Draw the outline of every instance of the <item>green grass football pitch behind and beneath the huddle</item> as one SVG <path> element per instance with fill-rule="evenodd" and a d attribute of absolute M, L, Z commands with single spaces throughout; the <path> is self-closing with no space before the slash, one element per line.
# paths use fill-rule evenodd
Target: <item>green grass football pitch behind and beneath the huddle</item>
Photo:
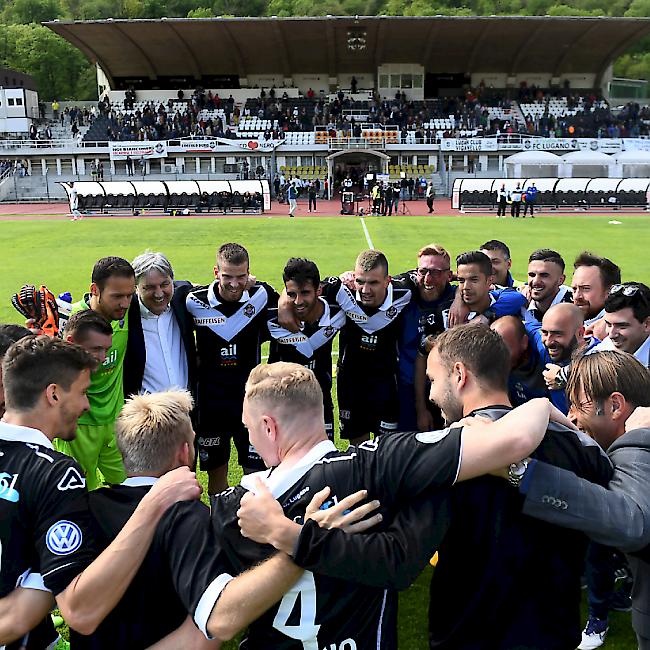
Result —
<path fill-rule="evenodd" d="M 612 219 L 620 224 L 609 224 Z M 438 242 L 452 257 L 477 248 L 487 239 L 501 239 L 512 251 L 513 275 L 524 279 L 528 254 L 554 248 L 571 264 L 582 250 L 613 259 L 625 280 L 650 282 L 648 217 L 580 215 L 539 216 L 535 220 L 496 220 L 494 217 L 366 217 L 375 248 L 384 251 L 392 272 L 415 265 L 424 244 Z M 0 222 L 0 322 L 20 322 L 11 294 L 22 284 L 45 283 L 55 293 L 70 291 L 75 300 L 88 290 L 93 263 L 106 255 L 132 259 L 145 249 L 163 251 L 178 279 L 207 283 L 212 279 L 216 248 L 236 241 L 248 248 L 251 272 L 275 287 L 291 257 L 317 262 L 323 275 L 351 269 L 368 242 L 357 217 L 286 217 L 254 219 L 92 219 Z M 570 270 L 568 273 L 570 280 Z M 231 481 L 238 480 L 231 463 Z M 427 647 L 427 569 L 400 600 L 400 648 Z M 444 594 L 440 595 L 444 597 Z M 542 614 L 543 615 L 543 614 Z M 489 631 L 486 630 L 486 634 Z M 224 648 L 235 648 L 234 643 Z M 613 614 L 606 648 L 635 648 L 628 614 Z"/>

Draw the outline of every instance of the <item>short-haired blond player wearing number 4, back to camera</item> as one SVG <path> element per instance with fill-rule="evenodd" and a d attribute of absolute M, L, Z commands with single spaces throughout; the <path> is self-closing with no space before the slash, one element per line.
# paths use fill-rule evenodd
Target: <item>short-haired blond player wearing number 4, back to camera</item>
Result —
<path fill-rule="evenodd" d="M 273 469 L 245 476 L 240 486 L 212 500 L 216 537 L 237 570 L 267 557 L 268 546 L 240 534 L 240 507 L 252 505 L 258 509 L 253 522 L 267 519 L 270 537 L 263 541 L 293 552 L 307 503 L 326 486 L 331 489 L 326 507 L 367 489 L 371 499 L 381 500 L 383 519 L 390 524 L 395 512 L 413 500 L 434 499 L 456 481 L 526 456 L 543 436 L 550 414 L 546 400 L 534 400 L 494 424 L 380 436 L 340 452 L 325 433 L 323 398 L 314 373 L 293 363 L 259 365 L 246 384 L 243 418 L 251 442 Z M 523 443 L 520 434 L 528 441 Z M 519 442 L 513 445 L 514 440 Z M 418 525 L 428 530 L 431 519 L 425 516 Z M 245 534 L 256 537 L 253 530 Z M 345 558 L 345 539 L 354 537 L 343 536 L 337 557 Z M 381 551 L 373 547 L 369 560 L 384 563 L 386 555 L 400 555 L 410 561 L 409 549 L 379 544 Z M 305 571 L 280 604 L 251 625 L 246 647 L 396 648 L 396 593 L 355 582 L 368 584 L 371 578 L 351 572 L 343 580 Z M 296 616 L 294 609 L 299 609 Z"/>

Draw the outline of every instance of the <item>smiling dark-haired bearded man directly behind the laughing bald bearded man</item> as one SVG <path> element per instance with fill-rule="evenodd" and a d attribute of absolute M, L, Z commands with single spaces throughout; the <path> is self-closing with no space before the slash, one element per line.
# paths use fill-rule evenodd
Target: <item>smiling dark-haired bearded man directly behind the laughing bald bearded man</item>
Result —
<path fill-rule="evenodd" d="M 571 290 L 563 286 L 564 260 L 549 248 L 540 248 L 528 258 L 528 308 L 522 313 L 527 323 L 541 323 L 552 305 L 571 302 Z"/>

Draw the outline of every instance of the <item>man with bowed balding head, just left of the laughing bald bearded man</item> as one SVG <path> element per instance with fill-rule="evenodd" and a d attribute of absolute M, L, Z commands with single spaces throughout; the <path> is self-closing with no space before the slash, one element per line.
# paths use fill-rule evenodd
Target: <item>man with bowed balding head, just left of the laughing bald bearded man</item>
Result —
<path fill-rule="evenodd" d="M 545 360 L 526 334 L 526 328 L 517 316 L 503 316 L 492 323 L 510 352 L 508 394 L 513 406 L 519 406 L 536 397 L 549 397 L 542 375 Z"/>

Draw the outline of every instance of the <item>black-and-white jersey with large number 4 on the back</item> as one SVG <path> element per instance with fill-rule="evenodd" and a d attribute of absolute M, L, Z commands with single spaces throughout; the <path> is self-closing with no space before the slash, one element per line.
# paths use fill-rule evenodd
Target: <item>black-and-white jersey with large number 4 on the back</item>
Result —
<path fill-rule="evenodd" d="M 302 522 L 314 494 L 329 486 L 323 507 L 361 490 L 381 501 L 384 522 L 411 500 L 451 486 L 458 475 L 461 429 L 380 436 L 346 452 L 330 441 L 314 446 L 296 465 L 250 474 L 239 486 L 212 498 L 215 535 L 237 572 L 274 550 L 243 538 L 237 510 L 254 479 L 262 478 L 285 515 Z M 397 647 L 397 594 L 305 571 L 282 601 L 253 623 L 242 650 L 393 650 Z"/>

